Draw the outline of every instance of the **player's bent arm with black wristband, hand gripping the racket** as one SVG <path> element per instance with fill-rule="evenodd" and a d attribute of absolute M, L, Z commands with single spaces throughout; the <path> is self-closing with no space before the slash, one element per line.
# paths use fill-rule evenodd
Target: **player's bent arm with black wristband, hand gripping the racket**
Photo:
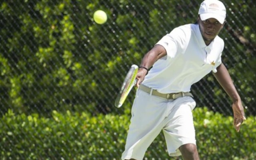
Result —
<path fill-rule="evenodd" d="M 155 45 L 145 56 L 143 57 L 140 66 L 150 68 L 160 58 L 166 56 L 166 50 L 161 45 Z M 136 86 L 139 87 L 140 83 L 144 80 L 147 70 L 145 68 L 139 68 L 136 79 L 138 79 Z"/>

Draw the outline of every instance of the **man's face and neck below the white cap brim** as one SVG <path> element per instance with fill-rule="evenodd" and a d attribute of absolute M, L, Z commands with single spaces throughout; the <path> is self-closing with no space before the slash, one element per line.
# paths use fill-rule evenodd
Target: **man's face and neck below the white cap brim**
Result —
<path fill-rule="evenodd" d="M 215 18 L 201 20 L 200 16 L 198 16 L 197 21 L 206 45 L 212 42 L 212 40 L 220 33 L 220 30 L 223 28 L 225 24 L 225 22 L 221 24 Z"/>

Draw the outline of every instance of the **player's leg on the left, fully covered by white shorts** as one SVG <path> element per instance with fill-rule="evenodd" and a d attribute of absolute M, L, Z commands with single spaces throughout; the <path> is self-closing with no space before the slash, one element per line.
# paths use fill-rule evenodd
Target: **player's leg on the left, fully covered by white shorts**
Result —
<path fill-rule="evenodd" d="M 142 160 L 153 140 L 162 131 L 167 100 L 137 90 L 122 160 Z"/>

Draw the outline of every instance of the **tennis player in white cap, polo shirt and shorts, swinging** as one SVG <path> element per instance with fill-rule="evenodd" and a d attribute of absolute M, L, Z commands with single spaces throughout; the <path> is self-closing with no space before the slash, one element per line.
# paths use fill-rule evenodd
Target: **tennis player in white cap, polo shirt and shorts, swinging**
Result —
<path fill-rule="evenodd" d="M 161 131 L 170 156 L 199 160 L 192 117 L 196 102 L 190 87 L 211 71 L 232 99 L 234 127 L 239 132 L 246 119 L 244 108 L 222 64 L 224 41 L 218 36 L 225 19 L 222 2 L 204 0 L 196 24 L 174 28 L 144 56 L 122 160 L 142 160 Z"/>

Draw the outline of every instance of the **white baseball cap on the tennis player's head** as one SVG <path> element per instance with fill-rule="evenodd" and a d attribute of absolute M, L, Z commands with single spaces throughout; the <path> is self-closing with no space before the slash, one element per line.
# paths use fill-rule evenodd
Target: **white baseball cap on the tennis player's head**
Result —
<path fill-rule="evenodd" d="M 215 18 L 223 24 L 226 18 L 226 8 L 219 0 L 204 0 L 200 5 L 198 14 L 201 20 Z"/>

